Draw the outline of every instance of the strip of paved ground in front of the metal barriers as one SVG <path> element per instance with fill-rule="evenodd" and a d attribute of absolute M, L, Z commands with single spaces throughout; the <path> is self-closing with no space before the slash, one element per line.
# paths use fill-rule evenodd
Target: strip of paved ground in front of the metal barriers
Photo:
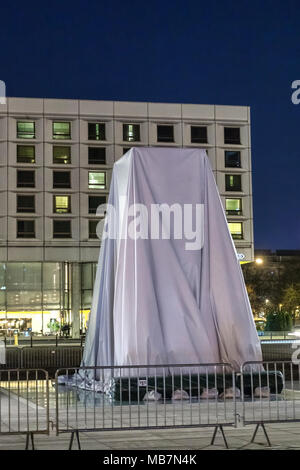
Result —
<path fill-rule="evenodd" d="M 238 429 L 225 429 L 230 449 L 300 449 L 300 424 L 271 424 L 267 425 L 272 447 L 265 445 L 266 441 L 260 430 L 256 443 L 250 444 L 254 427 L 247 426 Z M 80 435 L 84 450 L 176 450 L 203 449 L 223 450 L 223 442 L 218 435 L 216 445 L 210 446 L 212 429 L 171 429 L 164 431 L 112 431 L 103 433 L 82 433 Z M 69 435 L 35 437 L 36 448 L 39 450 L 66 450 Z M 0 450 L 24 449 L 24 436 L 0 436 Z M 76 443 L 74 445 L 76 448 Z"/>

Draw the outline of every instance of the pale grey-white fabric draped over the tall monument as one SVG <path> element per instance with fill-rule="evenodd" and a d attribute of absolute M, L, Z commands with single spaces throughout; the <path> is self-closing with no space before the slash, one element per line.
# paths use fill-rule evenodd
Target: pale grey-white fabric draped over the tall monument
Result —
<path fill-rule="evenodd" d="M 262 360 L 236 250 L 204 150 L 133 148 L 115 163 L 109 203 L 127 227 L 128 203 L 204 204 L 204 245 L 103 241 L 82 365 Z"/>

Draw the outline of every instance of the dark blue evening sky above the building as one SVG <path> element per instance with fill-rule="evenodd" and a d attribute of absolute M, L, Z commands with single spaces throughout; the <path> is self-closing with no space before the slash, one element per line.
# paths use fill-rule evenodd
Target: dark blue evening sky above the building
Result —
<path fill-rule="evenodd" d="M 6 2 L 8 96 L 249 105 L 256 248 L 300 248 L 299 0 Z"/>

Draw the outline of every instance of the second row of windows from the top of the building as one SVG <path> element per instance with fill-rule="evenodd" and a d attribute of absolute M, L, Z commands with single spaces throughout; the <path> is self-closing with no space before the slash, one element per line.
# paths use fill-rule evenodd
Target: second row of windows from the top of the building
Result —
<path fill-rule="evenodd" d="M 129 148 L 124 148 L 124 153 Z M 53 146 L 52 148 L 53 163 L 70 165 L 71 147 L 70 146 Z M 34 145 L 17 145 L 17 162 L 18 163 L 35 163 L 35 146 Z M 106 148 L 105 147 L 88 147 L 88 164 L 89 165 L 105 165 L 106 164 Z M 238 150 L 225 150 L 225 167 L 241 168 L 241 152 Z"/>

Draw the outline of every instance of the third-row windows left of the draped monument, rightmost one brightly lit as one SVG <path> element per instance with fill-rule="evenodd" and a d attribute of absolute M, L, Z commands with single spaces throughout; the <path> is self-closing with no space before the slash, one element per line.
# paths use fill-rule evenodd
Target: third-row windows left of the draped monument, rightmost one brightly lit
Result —
<path fill-rule="evenodd" d="M 105 171 L 89 171 L 89 189 L 106 189 L 107 178 Z M 35 188 L 34 170 L 17 170 L 17 188 Z M 53 188 L 71 188 L 70 171 L 53 171 Z"/>

